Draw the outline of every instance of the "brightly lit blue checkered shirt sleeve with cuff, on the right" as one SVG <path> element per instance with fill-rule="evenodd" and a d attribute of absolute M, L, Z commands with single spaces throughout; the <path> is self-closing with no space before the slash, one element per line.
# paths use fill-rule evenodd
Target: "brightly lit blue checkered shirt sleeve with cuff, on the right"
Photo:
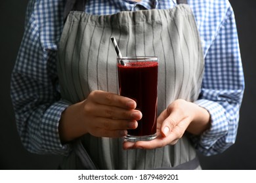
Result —
<path fill-rule="evenodd" d="M 220 14 L 211 14 L 209 10 L 203 12 L 194 7 L 194 13 L 200 15 L 198 18 L 206 17 L 202 16 L 203 13 L 209 13 L 209 18 L 205 18 L 207 22 L 201 20 L 199 25 L 205 53 L 205 74 L 202 92 L 196 103 L 211 114 L 211 128 L 200 137 L 193 138 L 196 148 L 206 156 L 219 154 L 236 141 L 244 93 L 244 73 L 234 12 L 230 3 L 219 2 L 223 4 L 209 3 L 212 7 L 208 9 L 218 8 L 222 12 Z M 198 1 L 197 5 L 202 6 L 200 3 Z M 216 27 L 218 19 L 221 24 Z"/>

